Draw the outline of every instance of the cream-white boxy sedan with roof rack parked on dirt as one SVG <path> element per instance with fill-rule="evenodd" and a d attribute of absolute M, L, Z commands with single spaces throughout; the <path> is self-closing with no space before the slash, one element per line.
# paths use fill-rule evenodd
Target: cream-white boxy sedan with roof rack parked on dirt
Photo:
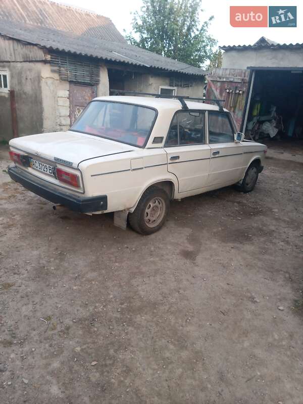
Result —
<path fill-rule="evenodd" d="M 172 199 L 237 184 L 254 189 L 267 147 L 243 140 L 230 113 L 183 98 L 92 100 L 67 132 L 10 141 L 11 178 L 85 214 L 115 212 L 141 234 L 159 230 Z"/>

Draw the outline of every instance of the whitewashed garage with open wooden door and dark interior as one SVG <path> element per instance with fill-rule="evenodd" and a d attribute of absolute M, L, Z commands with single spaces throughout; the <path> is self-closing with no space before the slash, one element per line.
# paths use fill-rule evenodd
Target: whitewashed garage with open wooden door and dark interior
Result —
<path fill-rule="evenodd" d="M 222 68 L 209 72 L 207 97 L 225 99 L 248 139 L 303 139 L 303 43 L 261 37 L 221 49 Z"/>

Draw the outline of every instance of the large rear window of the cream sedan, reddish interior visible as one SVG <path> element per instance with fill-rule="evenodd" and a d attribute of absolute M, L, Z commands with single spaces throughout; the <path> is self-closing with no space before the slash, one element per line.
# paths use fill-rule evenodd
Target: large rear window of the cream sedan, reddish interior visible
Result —
<path fill-rule="evenodd" d="M 153 129 L 156 111 L 131 104 L 93 101 L 71 130 L 143 147 Z"/>

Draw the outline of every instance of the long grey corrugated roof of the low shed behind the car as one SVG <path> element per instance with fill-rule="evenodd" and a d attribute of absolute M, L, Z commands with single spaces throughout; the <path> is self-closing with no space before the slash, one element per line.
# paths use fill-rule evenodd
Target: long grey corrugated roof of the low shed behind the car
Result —
<path fill-rule="evenodd" d="M 129 45 L 127 42 L 114 42 L 84 34 L 75 35 L 55 28 L 33 26 L 0 19 L 0 34 L 39 45 L 52 51 L 68 52 L 107 61 L 123 62 L 129 65 L 195 76 L 204 76 L 206 74 L 202 69 L 165 58 L 145 49 Z"/>

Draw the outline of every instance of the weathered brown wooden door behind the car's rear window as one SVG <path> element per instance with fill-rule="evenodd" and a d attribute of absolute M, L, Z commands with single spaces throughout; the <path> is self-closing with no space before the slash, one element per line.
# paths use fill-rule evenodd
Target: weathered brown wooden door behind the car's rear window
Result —
<path fill-rule="evenodd" d="M 69 99 L 71 125 L 73 125 L 87 104 L 96 96 L 96 85 L 80 85 L 70 83 Z"/>

